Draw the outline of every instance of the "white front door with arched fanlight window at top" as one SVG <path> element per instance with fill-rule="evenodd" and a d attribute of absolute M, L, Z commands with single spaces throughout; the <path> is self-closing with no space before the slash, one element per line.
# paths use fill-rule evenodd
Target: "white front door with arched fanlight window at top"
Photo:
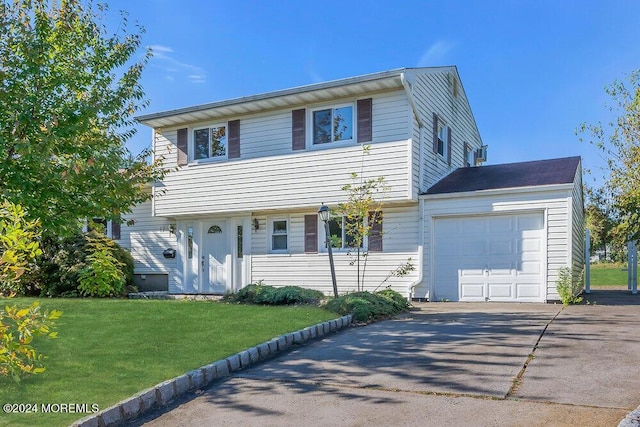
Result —
<path fill-rule="evenodd" d="M 230 290 L 229 230 L 226 221 L 205 222 L 204 250 L 200 256 L 202 280 L 200 293 L 224 293 Z"/>

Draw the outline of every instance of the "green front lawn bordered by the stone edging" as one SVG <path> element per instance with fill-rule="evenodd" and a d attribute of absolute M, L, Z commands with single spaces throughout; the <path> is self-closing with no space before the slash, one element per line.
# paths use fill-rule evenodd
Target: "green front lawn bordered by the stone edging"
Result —
<path fill-rule="evenodd" d="M 28 298 L 0 300 L 26 307 Z M 58 338 L 34 343 L 47 371 L 0 378 L 0 403 L 97 404 L 100 410 L 166 379 L 271 338 L 337 317 L 317 307 L 207 301 L 41 299 L 64 313 Z M 68 425 L 85 414 L 5 414 L 0 425 Z"/>

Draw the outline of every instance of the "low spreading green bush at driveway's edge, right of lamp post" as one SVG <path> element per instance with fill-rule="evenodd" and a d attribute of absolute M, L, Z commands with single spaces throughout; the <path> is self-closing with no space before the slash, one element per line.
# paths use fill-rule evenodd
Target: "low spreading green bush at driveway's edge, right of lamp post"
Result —
<path fill-rule="evenodd" d="M 342 295 L 327 302 L 325 308 L 340 315 L 351 313 L 357 322 L 368 322 L 402 313 L 409 309 L 409 303 L 398 292 L 385 289 Z"/>

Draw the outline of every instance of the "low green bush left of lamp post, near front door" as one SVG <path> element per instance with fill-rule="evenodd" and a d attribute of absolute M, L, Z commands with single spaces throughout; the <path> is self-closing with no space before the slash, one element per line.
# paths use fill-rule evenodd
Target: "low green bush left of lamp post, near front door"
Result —
<path fill-rule="evenodd" d="M 299 286 L 276 288 L 258 282 L 245 286 L 235 294 L 227 295 L 225 300 L 241 304 L 295 305 L 318 304 L 323 298 L 322 292 L 313 289 Z"/>

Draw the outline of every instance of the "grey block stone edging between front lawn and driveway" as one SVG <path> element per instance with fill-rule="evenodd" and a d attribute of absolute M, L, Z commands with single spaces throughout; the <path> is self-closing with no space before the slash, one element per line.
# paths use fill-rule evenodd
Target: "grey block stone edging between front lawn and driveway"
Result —
<path fill-rule="evenodd" d="M 71 425 L 73 427 L 104 427 L 122 424 L 151 409 L 166 406 L 175 398 L 189 391 L 198 390 L 216 380 L 230 376 L 235 371 L 270 359 L 283 351 L 289 350 L 294 345 L 304 344 L 307 341 L 322 338 L 324 335 L 346 328 L 351 324 L 352 320 L 353 316 L 348 314 L 296 332 L 281 335 L 231 355 L 226 359 L 212 362 L 171 380 L 163 381 L 109 408 L 79 419 Z"/>

